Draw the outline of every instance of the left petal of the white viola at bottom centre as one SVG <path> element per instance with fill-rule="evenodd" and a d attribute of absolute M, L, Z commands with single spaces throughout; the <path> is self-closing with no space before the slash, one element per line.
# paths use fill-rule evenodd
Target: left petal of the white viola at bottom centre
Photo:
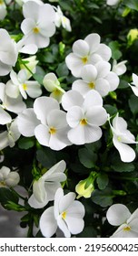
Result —
<path fill-rule="evenodd" d="M 50 238 L 57 229 L 57 223 L 54 219 L 54 207 L 47 208 L 40 217 L 40 230 L 44 237 Z"/>

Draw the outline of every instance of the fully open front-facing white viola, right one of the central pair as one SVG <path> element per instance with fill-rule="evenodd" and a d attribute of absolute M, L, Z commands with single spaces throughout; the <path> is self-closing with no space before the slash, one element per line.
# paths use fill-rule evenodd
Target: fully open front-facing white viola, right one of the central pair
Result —
<path fill-rule="evenodd" d="M 103 99 L 97 91 L 89 91 L 85 98 L 78 91 L 64 93 L 62 99 L 66 120 L 71 130 L 68 138 L 73 144 L 89 144 L 102 136 L 99 127 L 107 120 Z"/>

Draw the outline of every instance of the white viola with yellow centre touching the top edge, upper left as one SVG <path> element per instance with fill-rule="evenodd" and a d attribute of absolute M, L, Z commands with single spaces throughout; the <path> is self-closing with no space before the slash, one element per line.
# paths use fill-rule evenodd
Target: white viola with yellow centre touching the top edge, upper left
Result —
<path fill-rule="evenodd" d="M 37 48 L 46 48 L 55 32 L 54 7 L 27 1 L 23 5 L 23 15 L 25 19 L 21 29 L 25 35 L 25 46 L 34 44 Z"/>

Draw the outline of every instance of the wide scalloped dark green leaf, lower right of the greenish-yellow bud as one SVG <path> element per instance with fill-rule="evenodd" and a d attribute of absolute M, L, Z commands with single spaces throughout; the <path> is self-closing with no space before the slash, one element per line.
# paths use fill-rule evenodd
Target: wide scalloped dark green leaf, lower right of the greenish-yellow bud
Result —
<path fill-rule="evenodd" d="M 113 204 L 113 197 L 112 190 L 105 188 L 102 191 L 95 189 L 91 198 L 95 204 L 105 208 Z"/>

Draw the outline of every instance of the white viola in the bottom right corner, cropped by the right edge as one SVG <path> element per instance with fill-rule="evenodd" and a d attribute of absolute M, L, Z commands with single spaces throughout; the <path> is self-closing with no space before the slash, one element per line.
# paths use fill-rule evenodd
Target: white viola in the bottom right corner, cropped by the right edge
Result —
<path fill-rule="evenodd" d="M 108 208 L 106 218 L 111 225 L 120 226 L 112 238 L 138 238 L 138 208 L 131 214 L 123 204 L 114 204 Z"/>

